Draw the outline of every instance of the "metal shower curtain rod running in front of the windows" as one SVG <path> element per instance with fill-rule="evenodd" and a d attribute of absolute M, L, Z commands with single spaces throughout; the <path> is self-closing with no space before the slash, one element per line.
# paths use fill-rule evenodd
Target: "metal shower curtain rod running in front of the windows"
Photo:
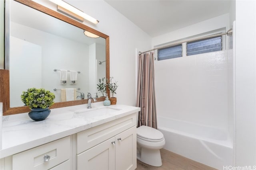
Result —
<path fill-rule="evenodd" d="M 176 43 L 164 45 L 164 46 L 157 47 L 157 48 L 154 48 L 154 49 L 151 49 L 151 50 L 148 50 L 148 51 L 144 51 L 144 52 L 140 52 L 140 51 L 139 51 L 139 55 L 141 55 L 141 54 L 143 54 L 143 53 L 150 52 L 150 51 L 162 49 L 162 48 L 165 48 L 165 47 L 171 47 L 171 46 L 173 46 L 173 45 L 178 45 L 178 44 L 181 44 L 181 43 L 187 43 L 187 42 L 190 42 L 190 41 L 196 41 L 196 40 L 200 40 L 200 39 L 206 39 L 206 38 L 217 37 L 217 36 L 220 36 L 220 35 L 228 35 L 228 36 L 231 37 L 231 36 L 232 36 L 232 28 L 229 29 L 226 33 L 217 33 L 217 34 L 214 34 L 214 35 L 208 35 L 208 36 L 204 36 L 204 37 L 199 37 L 199 38 L 194 38 L 194 39 L 179 41 L 179 42 L 176 42 Z"/>

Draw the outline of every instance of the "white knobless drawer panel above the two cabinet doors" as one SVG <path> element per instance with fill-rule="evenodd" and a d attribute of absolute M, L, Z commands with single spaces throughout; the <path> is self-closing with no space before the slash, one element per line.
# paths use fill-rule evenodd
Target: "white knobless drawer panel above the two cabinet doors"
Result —
<path fill-rule="evenodd" d="M 87 129 L 77 134 L 77 154 L 106 141 L 136 125 L 136 114 L 131 114 L 108 123 Z"/>

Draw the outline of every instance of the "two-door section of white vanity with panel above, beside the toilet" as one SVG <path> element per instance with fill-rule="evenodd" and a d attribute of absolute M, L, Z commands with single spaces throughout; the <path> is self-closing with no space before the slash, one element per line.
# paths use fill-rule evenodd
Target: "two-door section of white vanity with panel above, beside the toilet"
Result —
<path fill-rule="evenodd" d="M 77 170 L 134 170 L 136 115 L 77 134 Z"/>

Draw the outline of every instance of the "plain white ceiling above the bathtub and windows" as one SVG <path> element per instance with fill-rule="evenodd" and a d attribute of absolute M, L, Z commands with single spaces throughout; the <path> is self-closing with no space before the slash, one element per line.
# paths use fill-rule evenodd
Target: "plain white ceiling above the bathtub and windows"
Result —
<path fill-rule="evenodd" d="M 227 14 L 231 0 L 105 0 L 151 37 Z"/>

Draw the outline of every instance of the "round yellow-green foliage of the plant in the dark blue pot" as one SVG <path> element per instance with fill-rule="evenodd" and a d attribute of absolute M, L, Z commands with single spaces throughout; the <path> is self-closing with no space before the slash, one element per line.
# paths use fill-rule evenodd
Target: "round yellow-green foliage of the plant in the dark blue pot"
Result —
<path fill-rule="evenodd" d="M 21 100 L 30 109 L 42 108 L 45 109 L 54 104 L 55 95 L 44 88 L 29 88 L 22 92 Z"/>

